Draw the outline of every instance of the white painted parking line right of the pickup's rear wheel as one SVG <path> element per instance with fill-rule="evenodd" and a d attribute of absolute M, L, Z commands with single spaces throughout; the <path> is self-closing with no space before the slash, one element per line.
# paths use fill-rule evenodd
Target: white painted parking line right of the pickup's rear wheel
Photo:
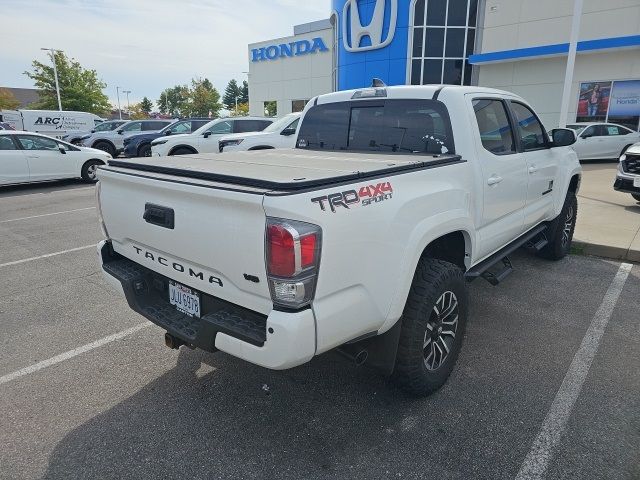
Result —
<path fill-rule="evenodd" d="M 591 362 L 598 351 L 604 330 L 632 267 L 633 265 L 629 263 L 620 265 L 618 273 L 613 278 L 607 293 L 605 293 L 598 311 L 591 320 L 580 348 L 573 357 L 569 370 L 564 380 L 562 380 L 562 385 L 560 385 L 560 389 L 553 399 L 551 408 L 542 423 L 531 450 L 520 467 L 516 480 L 533 480 L 544 477 L 553 455 L 553 450 L 564 433 L 573 406 L 580 395 L 580 390 L 587 378 L 589 368 L 591 368 Z"/>

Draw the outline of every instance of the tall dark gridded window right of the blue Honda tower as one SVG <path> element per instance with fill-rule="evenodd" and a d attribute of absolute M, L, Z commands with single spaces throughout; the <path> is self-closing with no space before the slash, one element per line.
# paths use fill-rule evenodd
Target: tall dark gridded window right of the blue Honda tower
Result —
<path fill-rule="evenodd" d="M 478 0 L 417 0 L 413 10 L 411 84 L 471 85 Z"/>

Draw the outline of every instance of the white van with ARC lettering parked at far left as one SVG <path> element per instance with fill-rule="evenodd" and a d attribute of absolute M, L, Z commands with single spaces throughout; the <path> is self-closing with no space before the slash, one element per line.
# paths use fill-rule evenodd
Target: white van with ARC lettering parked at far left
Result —
<path fill-rule="evenodd" d="M 75 131 L 93 130 L 104 120 L 87 112 L 58 110 L 0 110 L 0 122 L 6 122 L 16 130 L 42 133 L 62 138 Z"/>

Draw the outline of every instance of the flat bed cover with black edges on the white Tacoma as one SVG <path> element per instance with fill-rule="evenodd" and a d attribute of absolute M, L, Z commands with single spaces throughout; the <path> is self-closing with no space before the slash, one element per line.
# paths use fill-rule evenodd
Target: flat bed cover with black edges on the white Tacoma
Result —
<path fill-rule="evenodd" d="M 299 191 L 407 170 L 460 162 L 458 155 L 406 155 L 312 150 L 257 150 L 224 154 L 111 160 L 114 170 L 152 172 L 259 190 Z M 103 167 L 109 170 L 109 167 Z M 156 177 L 157 178 L 157 177 Z M 264 193 L 264 191 L 256 193 Z"/>

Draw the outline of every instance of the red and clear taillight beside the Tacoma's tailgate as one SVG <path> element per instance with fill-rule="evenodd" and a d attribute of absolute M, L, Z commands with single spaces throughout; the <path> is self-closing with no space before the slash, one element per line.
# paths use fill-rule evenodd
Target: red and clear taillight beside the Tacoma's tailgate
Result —
<path fill-rule="evenodd" d="M 311 223 L 267 218 L 267 276 L 274 305 L 301 308 L 313 300 L 322 230 Z"/>

